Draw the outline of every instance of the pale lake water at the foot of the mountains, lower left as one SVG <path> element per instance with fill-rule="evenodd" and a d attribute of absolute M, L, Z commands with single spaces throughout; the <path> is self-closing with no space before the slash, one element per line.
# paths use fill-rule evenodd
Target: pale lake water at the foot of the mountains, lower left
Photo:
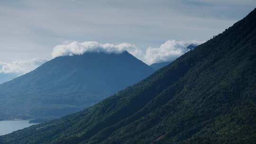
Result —
<path fill-rule="evenodd" d="M 36 123 L 29 123 L 29 120 L 4 120 L 0 121 L 0 135 L 9 134 L 11 132 L 23 129 Z"/>

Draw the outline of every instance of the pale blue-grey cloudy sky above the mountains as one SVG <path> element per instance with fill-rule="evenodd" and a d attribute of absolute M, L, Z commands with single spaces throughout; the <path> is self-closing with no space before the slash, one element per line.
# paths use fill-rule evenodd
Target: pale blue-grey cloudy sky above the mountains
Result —
<path fill-rule="evenodd" d="M 256 0 L 0 0 L 0 72 L 29 72 L 71 45 L 128 50 L 147 64 L 172 60 L 255 7 Z"/>

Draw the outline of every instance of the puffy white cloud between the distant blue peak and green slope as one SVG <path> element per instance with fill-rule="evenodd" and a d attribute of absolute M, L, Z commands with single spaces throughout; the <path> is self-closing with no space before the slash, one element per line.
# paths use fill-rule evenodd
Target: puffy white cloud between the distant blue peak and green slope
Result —
<path fill-rule="evenodd" d="M 199 44 L 201 42 L 168 40 L 160 45 L 160 47 L 148 47 L 146 49 L 145 60 L 148 64 L 171 62 L 188 52 L 190 50 L 188 48 L 189 45 Z"/>

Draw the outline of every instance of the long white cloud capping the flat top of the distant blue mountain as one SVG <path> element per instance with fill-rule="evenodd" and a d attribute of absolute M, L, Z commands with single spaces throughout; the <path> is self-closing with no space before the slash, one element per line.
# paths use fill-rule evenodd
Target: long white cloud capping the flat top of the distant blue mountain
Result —
<path fill-rule="evenodd" d="M 114 44 L 99 44 L 98 42 L 86 41 L 83 43 L 70 42 L 64 43 L 63 45 L 57 45 L 54 47 L 52 57 L 73 55 L 73 54 L 84 54 L 86 52 L 104 52 L 107 54 L 115 53 L 120 54 L 124 51 L 129 51 L 131 54 L 139 53 L 139 49 L 132 44 L 121 43 L 118 45 Z"/>

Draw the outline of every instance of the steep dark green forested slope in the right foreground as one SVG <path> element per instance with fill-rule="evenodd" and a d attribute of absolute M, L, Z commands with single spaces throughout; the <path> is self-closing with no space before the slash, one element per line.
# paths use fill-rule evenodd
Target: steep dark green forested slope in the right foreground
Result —
<path fill-rule="evenodd" d="M 254 144 L 256 9 L 145 80 L 2 144 Z"/>

